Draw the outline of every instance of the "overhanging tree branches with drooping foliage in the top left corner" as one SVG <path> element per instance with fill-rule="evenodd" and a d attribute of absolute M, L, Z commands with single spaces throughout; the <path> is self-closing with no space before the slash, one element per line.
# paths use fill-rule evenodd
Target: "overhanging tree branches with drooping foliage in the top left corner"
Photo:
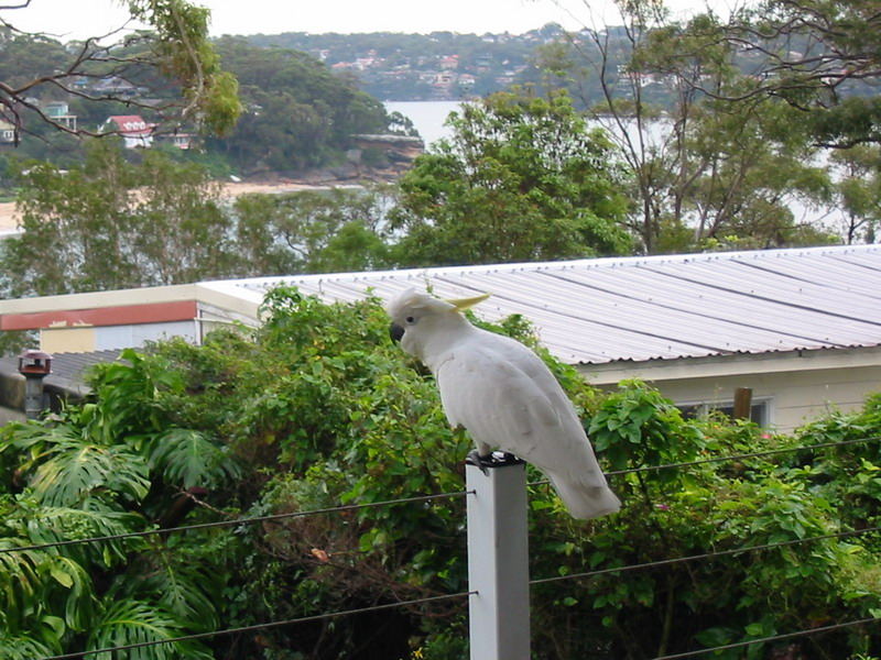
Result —
<path fill-rule="evenodd" d="M 29 3 L 26 0 L 3 10 Z M 9 121 L 17 134 L 34 132 L 42 124 L 64 133 L 97 134 L 94 128 L 72 125 L 45 111 L 45 101 L 72 99 L 141 108 L 151 117 L 163 118 L 167 130 L 177 128 L 181 121 L 217 133 L 232 128 L 241 111 L 238 84 L 221 69 L 208 40 L 210 12 L 185 0 L 127 0 L 124 4 L 133 19 L 152 31 L 123 34 L 120 29 L 113 35 L 63 45 L 45 35 L 23 33 L 6 16 L 0 18 L 0 50 L 9 66 L 15 67 L 0 77 L 0 118 Z M 108 36 L 119 34 L 123 34 L 121 40 L 106 43 Z M 15 56 L 19 48 L 41 56 L 21 58 Z M 161 74 L 159 78 L 156 73 Z M 94 85 L 99 80 L 117 85 Z M 153 84 L 152 94 L 146 89 L 137 96 L 129 94 L 148 82 Z M 163 99 L 159 106 L 155 94 Z M 153 100 L 146 100 L 151 97 Z"/>

